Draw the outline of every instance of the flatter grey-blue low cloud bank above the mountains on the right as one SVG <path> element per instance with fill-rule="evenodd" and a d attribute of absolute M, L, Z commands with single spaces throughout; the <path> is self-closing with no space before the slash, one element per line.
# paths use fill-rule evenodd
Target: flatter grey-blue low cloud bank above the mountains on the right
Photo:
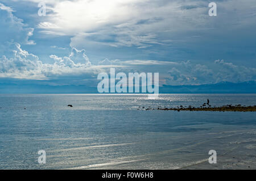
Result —
<path fill-rule="evenodd" d="M 164 85 L 204 85 L 218 82 L 256 81 L 256 69 L 235 65 L 224 60 L 212 61 L 207 65 L 192 61 L 157 61 L 157 60 L 109 60 L 106 58 L 100 65 L 123 65 L 121 71 L 159 72 L 161 84 Z"/>

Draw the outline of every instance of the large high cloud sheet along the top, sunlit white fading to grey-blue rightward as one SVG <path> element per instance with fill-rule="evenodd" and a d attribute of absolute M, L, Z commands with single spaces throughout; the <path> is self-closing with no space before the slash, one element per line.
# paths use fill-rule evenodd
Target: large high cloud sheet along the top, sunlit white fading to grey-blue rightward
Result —
<path fill-rule="evenodd" d="M 147 48 L 179 43 L 181 39 L 188 41 L 202 31 L 223 33 L 224 29 L 246 27 L 248 22 L 256 20 L 254 0 L 218 1 L 220 16 L 216 18 L 209 18 L 208 3 L 204 0 L 54 1 L 51 2 L 54 13 L 47 15 L 38 27 L 48 35 L 72 36 L 72 47 L 94 41 L 112 47 Z"/>

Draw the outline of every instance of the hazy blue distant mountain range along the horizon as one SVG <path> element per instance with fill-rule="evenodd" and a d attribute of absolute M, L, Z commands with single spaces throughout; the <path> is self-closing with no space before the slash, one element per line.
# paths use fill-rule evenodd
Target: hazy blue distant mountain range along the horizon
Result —
<path fill-rule="evenodd" d="M 256 94 L 256 82 L 159 87 L 160 94 Z M 0 94 L 97 94 L 97 87 L 50 86 L 38 83 L 0 83 Z"/>

